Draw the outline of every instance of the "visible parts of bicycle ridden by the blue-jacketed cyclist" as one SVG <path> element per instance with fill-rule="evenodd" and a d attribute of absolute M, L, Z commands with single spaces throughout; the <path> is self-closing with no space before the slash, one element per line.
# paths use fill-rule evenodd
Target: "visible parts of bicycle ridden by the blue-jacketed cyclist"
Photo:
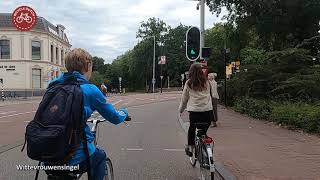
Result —
<path fill-rule="evenodd" d="M 105 119 L 101 120 L 101 119 L 88 119 L 87 123 L 92 123 L 92 127 L 91 127 L 91 132 L 95 135 L 94 136 L 94 145 L 96 146 L 98 144 L 98 138 L 97 138 L 97 129 L 98 129 L 98 124 L 101 122 L 106 121 Z M 131 121 L 131 117 L 128 116 L 127 119 L 125 121 Z M 127 123 L 124 122 L 126 125 Z M 52 174 L 48 174 L 47 175 L 47 180 L 80 180 L 80 178 L 82 177 L 82 175 L 84 174 L 80 173 L 79 171 L 55 171 Z M 112 161 L 109 157 L 107 157 L 106 159 L 106 176 L 105 176 L 105 180 L 114 180 L 114 173 L 113 173 L 113 166 L 112 166 Z"/>

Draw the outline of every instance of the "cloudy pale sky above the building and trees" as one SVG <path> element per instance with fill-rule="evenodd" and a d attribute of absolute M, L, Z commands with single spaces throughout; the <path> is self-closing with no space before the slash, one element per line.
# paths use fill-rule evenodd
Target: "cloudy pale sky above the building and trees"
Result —
<path fill-rule="evenodd" d="M 200 25 L 197 2 L 190 0 L 1 0 L 0 12 L 12 13 L 22 5 L 55 25 L 64 25 L 73 48 L 85 48 L 107 63 L 134 47 L 140 23 L 150 17 L 171 27 Z M 206 7 L 206 28 L 220 21 Z"/>

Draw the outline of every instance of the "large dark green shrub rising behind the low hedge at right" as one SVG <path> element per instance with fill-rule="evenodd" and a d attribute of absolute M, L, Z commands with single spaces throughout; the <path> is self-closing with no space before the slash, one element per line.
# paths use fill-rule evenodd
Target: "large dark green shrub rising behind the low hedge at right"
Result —
<path fill-rule="evenodd" d="M 242 66 L 241 73 L 228 81 L 229 102 L 232 104 L 241 96 L 284 101 L 320 100 L 320 67 L 313 66 L 307 53 L 287 49 L 268 53 L 264 64 Z"/>

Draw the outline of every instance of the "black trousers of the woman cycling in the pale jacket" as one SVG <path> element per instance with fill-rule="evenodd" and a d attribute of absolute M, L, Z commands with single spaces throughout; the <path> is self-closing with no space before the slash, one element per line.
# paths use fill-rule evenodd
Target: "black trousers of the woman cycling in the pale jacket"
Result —
<path fill-rule="evenodd" d="M 197 128 L 195 123 L 207 123 L 208 125 L 201 126 L 201 129 L 207 133 L 207 130 L 213 118 L 213 110 L 205 112 L 189 112 L 190 126 L 188 130 L 188 145 L 195 145 L 194 140 Z"/>

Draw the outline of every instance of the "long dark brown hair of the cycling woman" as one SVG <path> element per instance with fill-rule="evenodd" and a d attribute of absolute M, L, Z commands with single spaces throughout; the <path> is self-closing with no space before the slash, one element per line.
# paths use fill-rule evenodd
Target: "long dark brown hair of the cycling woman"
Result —
<path fill-rule="evenodd" d="M 193 63 L 191 65 L 187 85 L 194 91 L 203 91 L 207 89 L 207 77 L 202 71 L 201 64 Z"/>

